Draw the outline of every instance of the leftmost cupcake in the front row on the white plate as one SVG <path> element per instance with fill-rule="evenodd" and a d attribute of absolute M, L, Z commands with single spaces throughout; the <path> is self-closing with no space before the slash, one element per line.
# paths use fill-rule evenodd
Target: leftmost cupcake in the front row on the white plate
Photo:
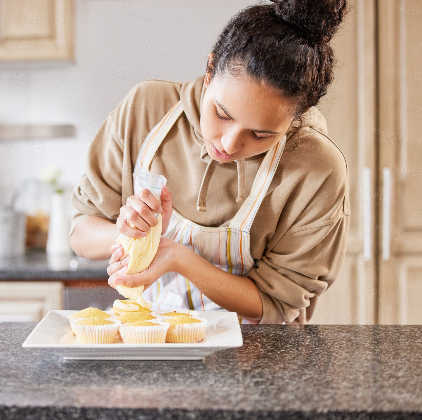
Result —
<path fill-rule="evenodd" d="M 80 344 L 114 343 L 120 323 L 99 317 L 82 318 L 73 324 L 73 329 Z"/>

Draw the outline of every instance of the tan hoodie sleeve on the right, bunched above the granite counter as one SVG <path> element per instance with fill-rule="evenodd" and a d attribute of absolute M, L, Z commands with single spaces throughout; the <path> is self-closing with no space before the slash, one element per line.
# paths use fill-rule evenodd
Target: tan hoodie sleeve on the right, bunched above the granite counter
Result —
<path fill-rule="evenodd" d="M 347 166 L 343 172 L 327 176 L 295 223 L 247 274 L 262 300 L 260 324 L 308 322 L 319 295 L 338 276 L 350 214 Z"/>

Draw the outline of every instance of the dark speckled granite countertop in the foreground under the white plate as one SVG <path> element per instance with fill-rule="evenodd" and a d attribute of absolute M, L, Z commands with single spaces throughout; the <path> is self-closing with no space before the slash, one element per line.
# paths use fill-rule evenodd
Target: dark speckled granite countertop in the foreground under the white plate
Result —
<path fill-rule="evenodd" d="M 64 360 L 0 324 L 0 419 L 422 417 L 422 326 L 242 325 L 203 360 Z"/>

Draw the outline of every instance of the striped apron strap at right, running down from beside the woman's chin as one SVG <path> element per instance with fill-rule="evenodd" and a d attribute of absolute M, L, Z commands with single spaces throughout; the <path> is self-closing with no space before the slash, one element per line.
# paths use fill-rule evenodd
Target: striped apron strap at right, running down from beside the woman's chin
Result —
<path fill-rule="evenodd" d="M 274 174 L 276 173 L 286 141 L 287 135 L 285 134 L 284 137 L 265 154 L 257 171 L 257 175 L 255 176 L 254 183 L 252 184 L 251 192 L 239 211 L 235 214 L 235 217 L 230 221 L 230 228 L 249 232 L 255 215 L 257 214 L 268 187 L 273 180 Z"/>

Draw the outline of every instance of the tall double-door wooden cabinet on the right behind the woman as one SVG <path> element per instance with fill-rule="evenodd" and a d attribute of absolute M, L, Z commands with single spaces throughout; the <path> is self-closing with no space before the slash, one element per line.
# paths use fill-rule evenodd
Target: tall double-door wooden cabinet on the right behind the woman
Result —
<path fill-rule="evenodd" d="M 356 0 L 320 106 L 350 176 L 343 268 L 313 323 L 422 322 L 422 38 L 418 0 Z"/>

